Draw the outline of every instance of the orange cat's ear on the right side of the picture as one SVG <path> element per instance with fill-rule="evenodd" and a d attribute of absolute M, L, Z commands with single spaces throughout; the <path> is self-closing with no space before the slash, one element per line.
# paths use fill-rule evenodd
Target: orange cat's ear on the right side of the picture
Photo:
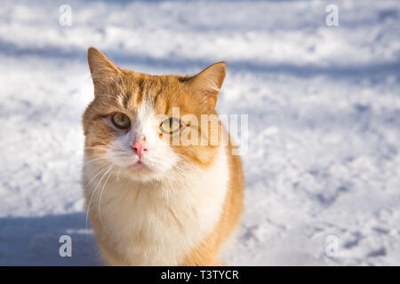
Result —
<path fill-rule="evenodd" d="M 187 83 L 190 85 L 200 99 L 213 109 L 217 104 L 218 94 L 226 75 L 225 62 L 219 62 L 206 67 L 202 72 L 190 77 Z"/>

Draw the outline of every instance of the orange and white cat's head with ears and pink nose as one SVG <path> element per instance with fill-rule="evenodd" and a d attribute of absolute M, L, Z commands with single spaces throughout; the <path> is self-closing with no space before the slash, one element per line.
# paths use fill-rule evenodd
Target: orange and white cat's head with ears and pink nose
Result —
<path fill-rule="evenodd" d="M 212 163 L 224 63 L 189 77 L 122 70 L 94 48 L 88 61 L 95 98 L 83 117 L 86 162 L 135 180 L 179 177 L 185 165 Z M 211 122 L 202 125 L 202 114 Z"/>

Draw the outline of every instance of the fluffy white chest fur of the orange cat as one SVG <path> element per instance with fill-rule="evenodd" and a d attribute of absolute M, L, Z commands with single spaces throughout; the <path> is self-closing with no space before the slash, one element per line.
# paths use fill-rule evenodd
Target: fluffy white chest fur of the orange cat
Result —
<path fill-rule="evenodd" d="M 92 172 L 85 167 L 84 173 Z M 220 147 L 209 169 L 191 169 L 179 182 L 138 183 L 111 176 L 104 190 L 101 185 L 93 193 L 94 181 L 84 191 L 93 196 L 91 218 L 101 219 L 95 227 L 98 238 L 126 264 L 177 265 L 218 222 L 228 177 L 227 155 Z"/>

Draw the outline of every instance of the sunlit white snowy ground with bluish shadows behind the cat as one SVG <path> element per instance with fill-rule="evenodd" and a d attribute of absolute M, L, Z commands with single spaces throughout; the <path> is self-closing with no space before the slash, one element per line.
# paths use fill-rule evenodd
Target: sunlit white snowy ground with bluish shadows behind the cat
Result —
<path fill-rule="evenodd" d="M 339 27 L 326 26 L 327 4 Z M 90 45 L 151 74 L 227 61 L 218 107 L 249 114 L 250 134 L 227 264 L 400 264 L 400 3 L 390 0 L 2 1 L 0 264 L 99 264 L 80 187 Z M 73 257 L 59 256 L 63 234 Z M 329 236 L 337 256 L 325 253 Z"/>

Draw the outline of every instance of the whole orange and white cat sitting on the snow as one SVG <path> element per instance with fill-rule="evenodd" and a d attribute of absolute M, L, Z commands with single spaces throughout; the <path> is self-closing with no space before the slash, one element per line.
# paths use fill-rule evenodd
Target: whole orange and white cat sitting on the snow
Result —
<path fill-rule="evenodd" d="M 88 64 L 82 180 L 105 263 L 221 265 L 244 203 L 242 162 L 215 111 L 225 63 L 147 75 L 90 47 Z"/>

